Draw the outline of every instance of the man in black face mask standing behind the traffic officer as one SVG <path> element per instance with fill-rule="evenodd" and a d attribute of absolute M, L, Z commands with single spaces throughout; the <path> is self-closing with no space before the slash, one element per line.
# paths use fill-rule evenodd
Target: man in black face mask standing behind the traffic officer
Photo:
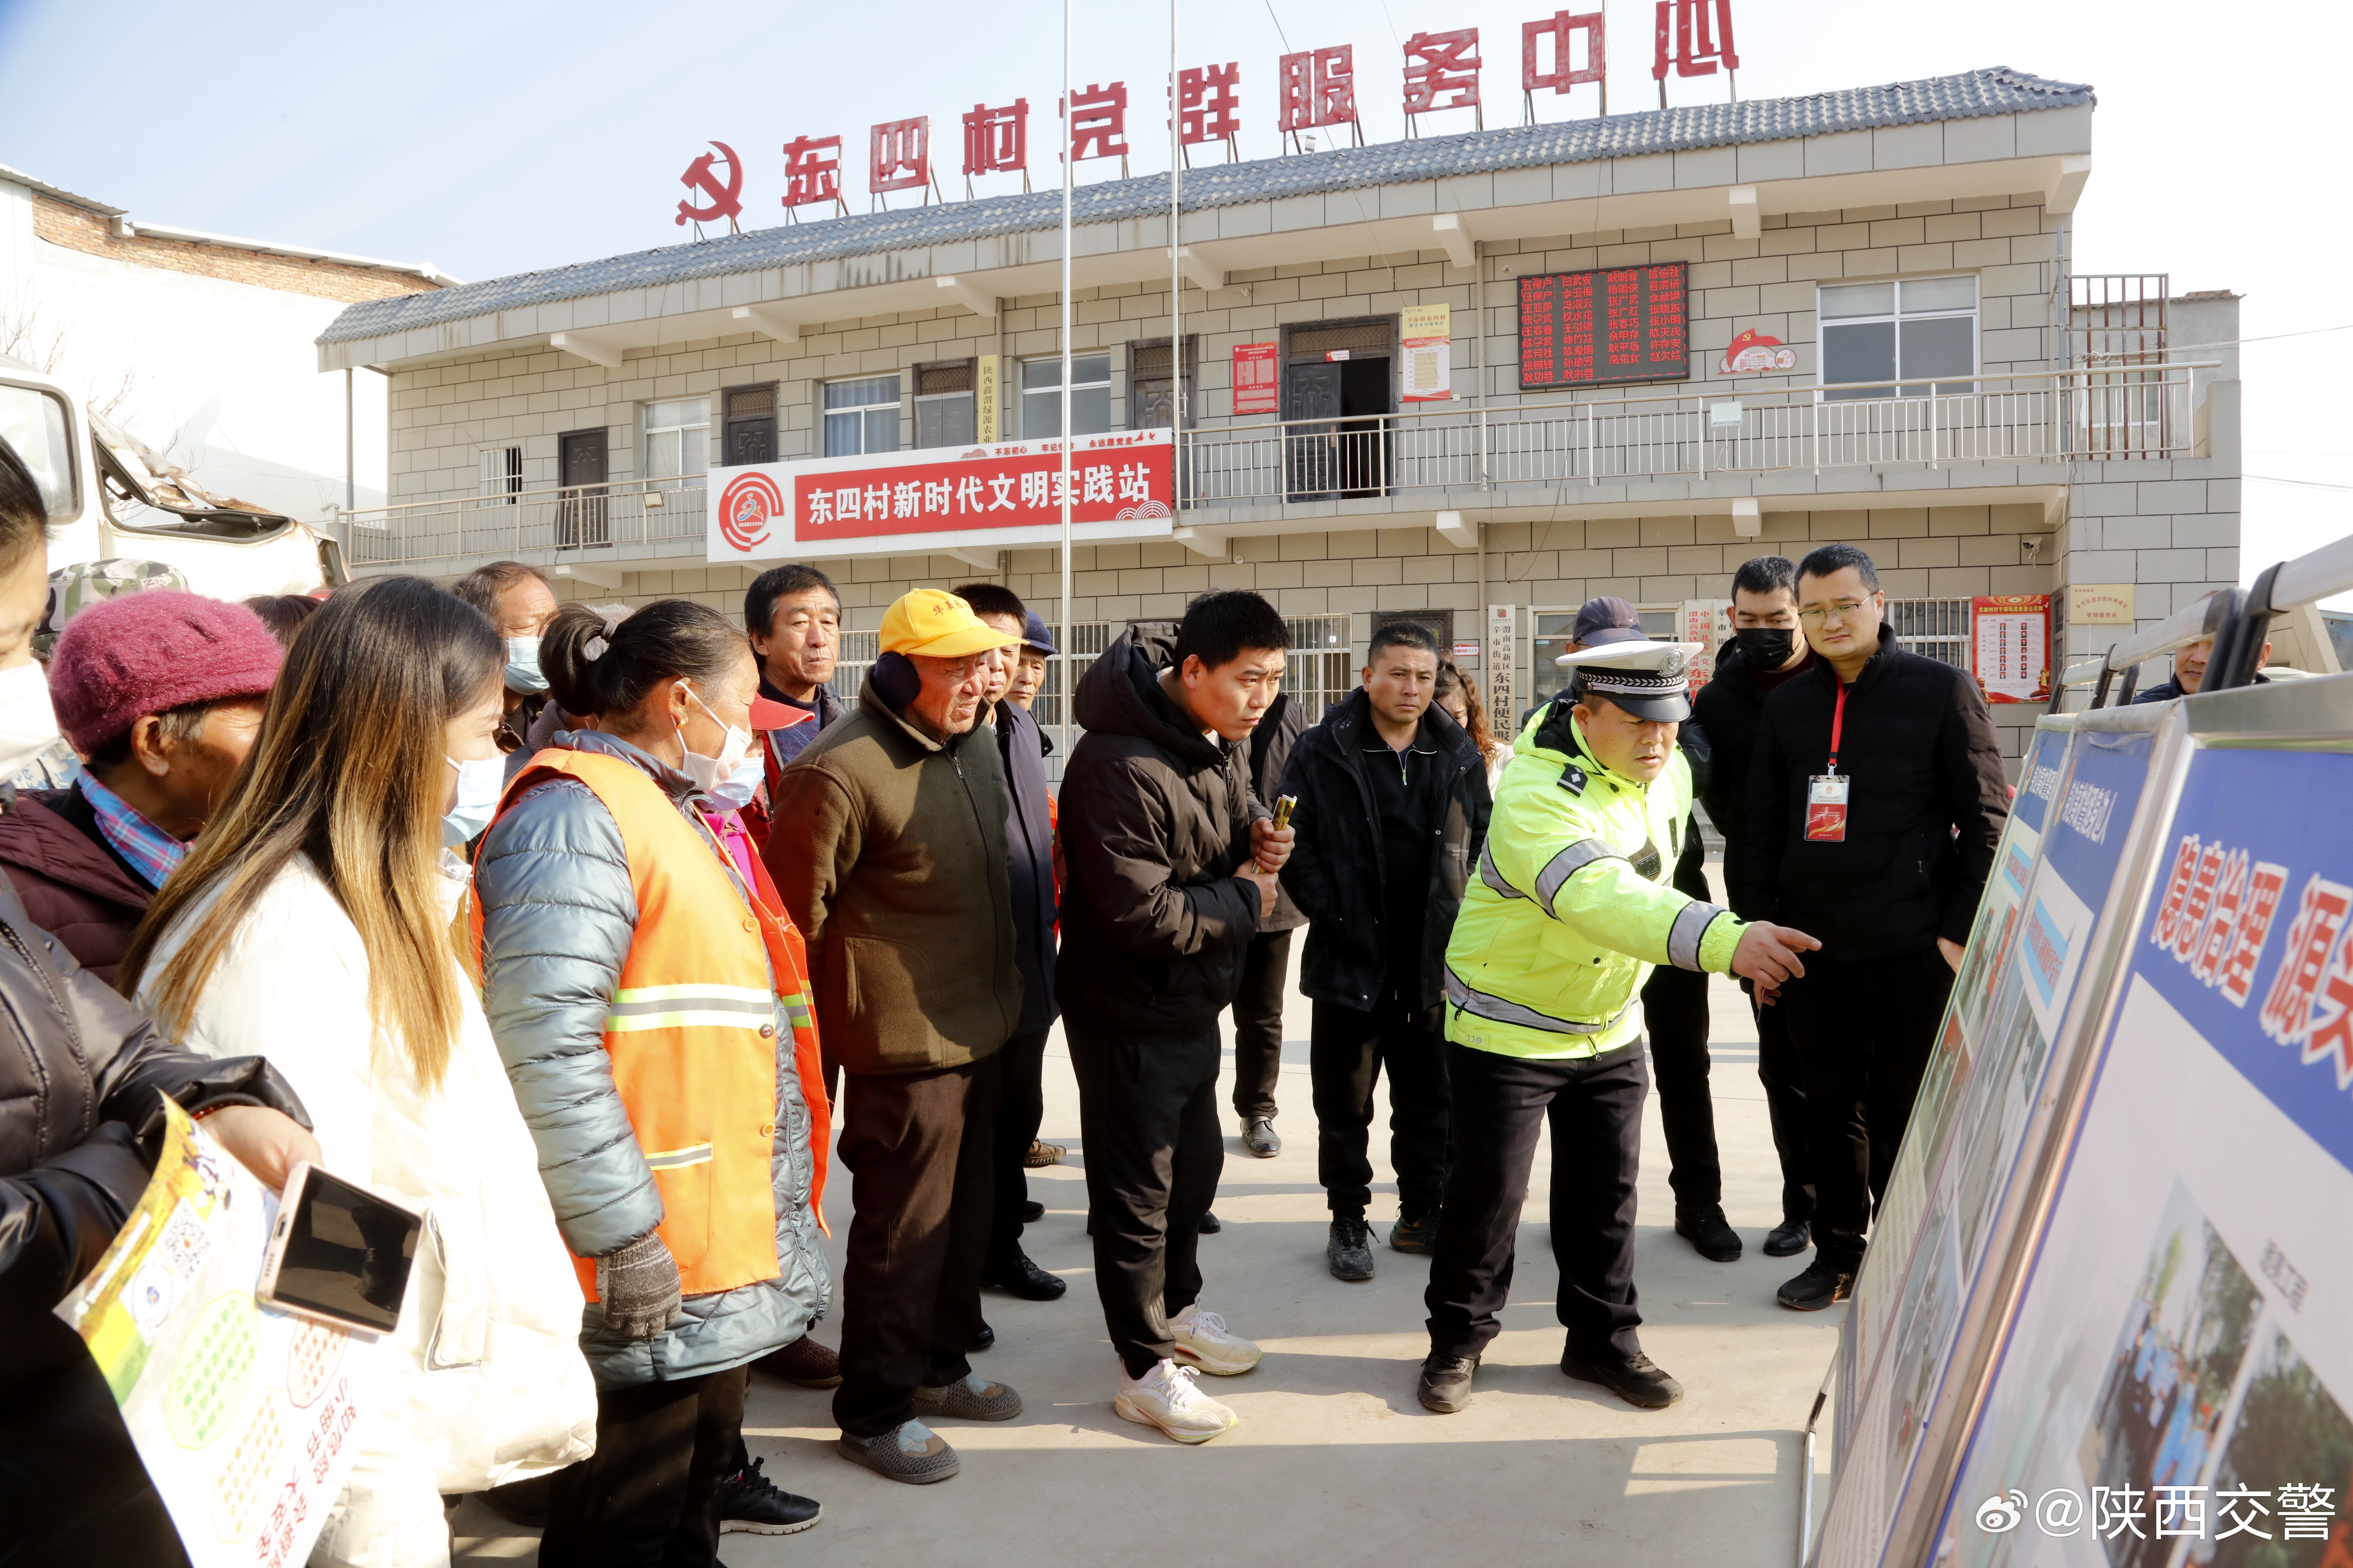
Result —
<path fill-rule="evenodd" d="M 1739 886 L 1748 844 L 1748 762 L 1755 757 L 1765 698 L 1814 665 L 1814 649 L 1798 632 L 1798 562 L 1758 555 L 1732 574 L 1732 642 L 1715 654 L 1715 679 L 1692 698 L 1692 717 L 1708 731 L 1713 759 L 1701 804 L 1725 835 L 1725 886 Z M 1748 1006 L 1758 1020 L 1758 1081 L 1772 1147 L 1781 1157 L 1781 1222 L 1765 1234 L 1767 1258 L 1795 1258 L 1812 1237 L 1814 1175 L 1805 1157 L 1805 1074 L 1788 1037 L 1788 1009 Z"/>

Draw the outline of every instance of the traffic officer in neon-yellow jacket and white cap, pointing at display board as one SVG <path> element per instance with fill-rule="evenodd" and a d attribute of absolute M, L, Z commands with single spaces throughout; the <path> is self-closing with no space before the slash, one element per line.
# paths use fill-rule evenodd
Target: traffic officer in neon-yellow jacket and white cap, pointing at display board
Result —
<path fill-rule="evenodd" d="M 1421 1403 L 1471 1403 L 1501 1333 L 1537 1133 L 1553 1131 L 1560 1371 L 1659 1410 L 1682 1385 L 1642 1354 L 1633 1288 L 1642 1060 L 1635 992 L 1659 964 L 1777 987 L 1805 973 L 1802 931 L 1744 924 L 1675 891 L 1668 851 L 1692 813 L 1675 729 L 1697 642 L 1609 642 L 1513 745 L 1478 875 L 1447 943 L 1454 1145 L 1431 1258 Z"/>

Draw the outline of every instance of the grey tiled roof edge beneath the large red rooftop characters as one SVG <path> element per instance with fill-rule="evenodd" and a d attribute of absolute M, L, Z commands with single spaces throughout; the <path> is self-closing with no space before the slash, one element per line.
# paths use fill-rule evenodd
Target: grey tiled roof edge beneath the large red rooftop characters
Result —
<path fill-rule="evenodd" d="M 1995 66 L 1965 75 L 1934 75 L 1920 82 L 1817 92 L 1805 99 L 1654 108 L 1638 115 L 1565 120 L 1560 125 L 1513 125 L 1461 136 L 1332 148 L 1301 158 L 1207 165 L 1186 169 L 1181 197 L 1186 212 L 1198 212 L 1282 195 L 1400 186 L 1457 174 L 1489 174 L 1494 169 L 1572 165 L 1640 153 L 1682 153 L 1748 141 L 1788 141 L 1828 132 L 2009 115 L 2080 103 L 2092 103 L 2092 89 L 2085 85 L 2049 82 L 2024 71 Z M 1165 214 L 1169 205 L 1167 179 L 1167 174 L 1141 174 L 1136 179 L 1080 186 L 1071 197 L 1071 221 L 1108 223 Z M 492 277 L 431 294 L 360 301 L 334 317 L 318 341 L 348 343 L 353 339 L 374 339 L 391 331 L 407 331 L 409 327 L 433 327 L 518 306 L 588 299 L 645 284 L 725 277 L 729 273 L 760 273 L 802 261 L 835 261 L 920 244 L 1033 233 L 1056 228 L 1059 223 L 1059 188 L 814 223 L 786 223 L 722 240 L 671 244 L 628 256 L 607 256 L 602 261 L 579 261 L 541 273 Z"/>

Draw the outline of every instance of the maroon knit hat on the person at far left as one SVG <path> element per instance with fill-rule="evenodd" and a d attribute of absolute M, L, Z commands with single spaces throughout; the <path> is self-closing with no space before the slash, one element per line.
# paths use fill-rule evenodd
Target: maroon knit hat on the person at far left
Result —
<path fill-rule="evenodd" d="M 266 696 L 278 639 L 261 616 L 193 592 L 151 590 L 92 604 L 56 635 L 49 703 L 85 757 L 151 712 Z"/>

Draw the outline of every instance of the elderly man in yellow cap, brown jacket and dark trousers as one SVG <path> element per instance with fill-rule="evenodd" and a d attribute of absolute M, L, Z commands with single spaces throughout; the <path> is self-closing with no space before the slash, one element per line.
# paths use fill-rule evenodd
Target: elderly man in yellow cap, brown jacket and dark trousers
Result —
<path fill-rule="evenodd" d="M 859 710 L 779 773 L 762 851 L 809 943 L 828 1077 L 847 1077 L 838 1126 L 856 1215 L 833 1420 L 842 1455 L 892 1481 L 958 1472 L 927 1422 L 1021 1413 L 967 1361 L 998 1046 L 1021 1020 L 1005 769 L 974 722 L 1019 642 L 934 588 L 892 604 Z"/>

